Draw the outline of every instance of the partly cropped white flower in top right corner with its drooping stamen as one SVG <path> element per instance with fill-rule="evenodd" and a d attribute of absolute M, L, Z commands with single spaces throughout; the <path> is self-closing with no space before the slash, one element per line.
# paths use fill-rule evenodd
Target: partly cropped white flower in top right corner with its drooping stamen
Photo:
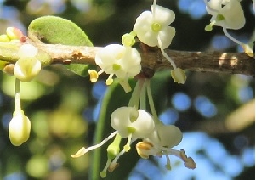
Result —
<path fill-rule="evenodd" d="M 212 31 L 213 25 L 221 26 L 226 37 L 236 42 L 244 49 L 248 56 L 253 57 L 253 49 L 228 33 L 227 29 L 238 30 L 245 25 L 240 0 L 204 0 L 208 14 L 212 15 L 211 23 L 205 27 L 206 31 Z"/>

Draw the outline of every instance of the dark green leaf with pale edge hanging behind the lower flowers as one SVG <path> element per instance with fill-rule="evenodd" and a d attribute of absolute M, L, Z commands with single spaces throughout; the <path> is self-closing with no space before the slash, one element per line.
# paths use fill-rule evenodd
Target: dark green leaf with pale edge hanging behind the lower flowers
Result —
<path fill-rule="evenodd" d="M 130 83 L 132 87 L 134 87 L 135 83 Z M 127 106 L 128 100 L 131 97 L 131 93 L 124 93 L 122 87 L 114 82 L 111 86 L 108 87 L 104 98 L 101 102 L 100 107 L 100 116 L 97 122 L 97 129 L 95 135 L 95 144 L 100 143 L 101 140 L 110 135 L 111 132 L 115 130 L 111 127 L 111 113 L 119 107 Z M 114 138 L 113 138 L 114 140 Z M 107 160 L 107 152 L 106 149 L 108 145 L 113 141 L 110 140 L 107 144 L 100 147 L 99 149 L 94 150 L 94 155 L 92 159 L 92 170 L 89 179 L 102 179 L 100 177 L 100 172 L 105 167 L 105 163 Z M 126 139 L 123 139 L 126 143 Z M 139 160 L 139 155 L 135 150 L 135 143 L 132 144 L 131 150 L 128 153 L 125 153 L 120 157 L 118 163 L 120 163 L 119 167 L 114 172 L 107 172 L 105 180 L 111 179 L 126 179 L 128 174 L 132 171 L 136 162 Z M 120 147 L 122 149 L 122 146 Z"/>

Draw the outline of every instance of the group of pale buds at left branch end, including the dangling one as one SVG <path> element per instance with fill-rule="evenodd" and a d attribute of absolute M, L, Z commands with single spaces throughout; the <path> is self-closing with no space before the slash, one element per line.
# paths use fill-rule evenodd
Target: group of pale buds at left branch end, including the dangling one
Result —
<path fill-rule="evenodd" d="M 26 37 L 15 27 L 8 27 L 6 34 L 0 35 L 0 42 L 20 43 L 17 52 L 19 58 L 16 63 L 9 64 L 0 61 L 0 68 L 9 75 L 14 75 L 15 80 L 15 110 L 9 122 L 9 139 L 15 146 L 26 142 L 30 136 L 31 122 L 24 115 L 20 105 L 20 82 L 30 82 L 41 70 L 41 62 L 37 59 L 38 49 L 31 44 L 26 44 Z"/>

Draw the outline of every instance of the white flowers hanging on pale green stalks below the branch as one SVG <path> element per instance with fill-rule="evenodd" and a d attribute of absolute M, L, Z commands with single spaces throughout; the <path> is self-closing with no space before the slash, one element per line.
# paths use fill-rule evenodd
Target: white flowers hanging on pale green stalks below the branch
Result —
<path fill-rule="evenodd" d="M 152 115 L 146 110 L 146 99 L 151 109 Z M 106 176 L 107 170 L 114 171 L 117 166 L 117 160 L 121 155 L 131 149 L 131 143 L 136 144 L 136 150 L 141 158 L 148 159 L 150 155 L 163 155 L 167 159 L 166 168 L 171 169 L 171 163 L 168 155 L 175 155 L 184 161 L 187 168 L 195 169 L 196 163 L 191 157 L 185 155 L 183 149 L 173 149 L 182 140 L 182 132 L 174 125 L 164 125 L 158 119 L 151 95 L 151 87 L 149 79 L 139 79 L 128 106 L 117 108 L 111 114 L 111 127 L 116 131 L 111 133 L 101 143 L 89 147 L 82 148 L 73 158 L 80 157 L 90 150 L 94 150 L 102 146 L 104 143 L 114 138 L 114 141 L 107 148 L 107 157 L 105 168 L 100 172 L 101 177 Z M 120 142 L 122 138 L 127 138 L 127 143 L 120 151 Z"/>

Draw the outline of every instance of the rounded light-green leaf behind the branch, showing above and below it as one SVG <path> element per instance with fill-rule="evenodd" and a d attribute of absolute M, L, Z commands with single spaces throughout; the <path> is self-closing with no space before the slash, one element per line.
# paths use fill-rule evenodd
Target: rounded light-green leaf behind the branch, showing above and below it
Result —
<path fill-rule="evenodd" d="M 71 20 L 56 16 L 43 16 L 33 20 L 28 26 L 28 37 L 34 42 L 64 44 L 73 46 L 93 46 L 88 36 Z M 88 65 L 65 65 L 68 70 L 80 76 L 88 76 Z"/>

